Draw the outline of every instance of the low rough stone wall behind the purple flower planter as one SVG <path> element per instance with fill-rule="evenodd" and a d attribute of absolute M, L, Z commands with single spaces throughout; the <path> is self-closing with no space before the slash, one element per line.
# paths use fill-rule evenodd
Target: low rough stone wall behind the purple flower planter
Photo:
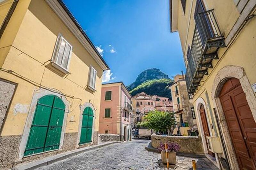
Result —
<path fill-rule="evenodd" d="M 176 142 L 180 145 L 179 152 L 203 154 L 204 149 L 201 137 L 179 137 L 179 136 L 162 136 L 151 135 L 151 144 L 157 148 L 160 142 Z"/>

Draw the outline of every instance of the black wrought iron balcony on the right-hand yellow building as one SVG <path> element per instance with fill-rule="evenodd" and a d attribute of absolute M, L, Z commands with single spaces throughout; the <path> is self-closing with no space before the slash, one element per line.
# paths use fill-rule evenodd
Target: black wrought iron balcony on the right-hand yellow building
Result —
<path fill-rule="evenodd" d="M 224 36 L 214 17 L 213 10 L 198 13 L 195 17 L 196 26 L 187 53 L 186 83 L 188 93 L 194 95 L 208 68 L 213 68 L 212 60 L 219 59 L 217 51 L 225 47 Z"/>

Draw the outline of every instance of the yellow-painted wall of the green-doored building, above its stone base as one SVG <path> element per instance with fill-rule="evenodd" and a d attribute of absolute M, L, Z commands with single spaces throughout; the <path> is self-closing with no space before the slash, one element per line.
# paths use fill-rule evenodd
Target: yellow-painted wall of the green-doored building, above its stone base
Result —
<path fill-rule="evenodd" d="M 18 3 L 18 10 L 15 11 L 15 15 L 25 11 L 24 18 L 11 20 L 13 23 L 16 21 L 22 21 L 22 23 L 20 22 L 21 25 L 17 23 L 15 26 L 18 28 L 17 35 L 13 43 L 9 42 L 12 46 L 2 66 L 3 69 L 12 70 L 13 74 L 0 71 L 1 78 L 18 84 L 1 136 L 21 135 L 23 133 L 28 113 L 17 111 L 15 106 L 20 104 L 29 109 L 33 92 L 39 89 L 40 85 L 67 94 L 67 100 L 70 102 L 70 113 L 67 118 L 66 132 L 78 132 L 79 105 L 89 101 L 96 109 L 94 131 L 98 131 L 103 70 L 45 1 L 31 1 L 28 10 L 26 10 L 25 4 L 21 8 L 22 3 L 25 2 L 29 4 L 28 0 L 22 0 Z M 1 47 L 2 44 L 6 43 L 3 41 L 11 36 L 11 29 L 13 28 L 6 28 L 5 38 L 0 40 Z M 71 74 L 68 75 L 64 75 L 52 67 L 50 63 L 59 33 L 73 46 L 69 67 Z M 86 88 L 90 65 L 97 70 L 96 92 Z M 71 96 L 74 96 L 73 99 Z"/>

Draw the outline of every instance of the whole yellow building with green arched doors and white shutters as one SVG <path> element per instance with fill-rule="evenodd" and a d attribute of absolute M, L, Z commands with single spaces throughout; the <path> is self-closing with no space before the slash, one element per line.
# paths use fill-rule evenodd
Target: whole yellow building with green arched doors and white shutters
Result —
<path fill-rule="evenodd" d="M 0 0 L 0 169 L 97 144 L 108 65 L 61 0 Z"/>

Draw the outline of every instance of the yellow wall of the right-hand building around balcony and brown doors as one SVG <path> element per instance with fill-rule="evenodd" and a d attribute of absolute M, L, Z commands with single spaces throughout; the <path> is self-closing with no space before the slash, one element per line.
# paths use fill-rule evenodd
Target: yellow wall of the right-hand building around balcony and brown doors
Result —
<path fill-rule="evenodd" d="M 192 11 L 191 15 L 189 16 L 189 10 L 190 5 L 188 5 L 188 2 L 193 2 L 192 5 Z M 204 5 L 206 7 L 206 10 L 214 9 L 214 15 L 216 17 L 217 23 L 220 27 L 221 33 L 224 35 L 225 38 L 227 38 L 228 35 L 231 35 L 230 31 L 234 27 L 234 25 L 237 22 L 237 19 L 240 17 L 240 13 L 237 10 L 237 7 L 233 0 L 203 0 Z M 193 39 L 194 29 L 195 29 L 195 20 L 194 20 L 194 11 L 195 11 L 195 5 L 196 0 L 187 1 L 186 4 L 186 17 L 184 17 L 183 10 L 181 7 L 181 4 L 179 3 L 179 12 L 178 12 L 178 31 L 180 35 L 180 41 L 181 46 L 183 50 L 184 59 L 187 58 L 187 49 L 188 45 L 191 48 L 191 43 Z M 175 8 L 175 7 L 173 7 Z M 254 8 L 255 9 L 255 8 Z M 183 14 L 183 15 L 182 15 Z M 256 12 L 254 11 L 254 14 Z M 190 22 L 188 22 L 188 18 L 190 17 Z M 240 66 L 244 68 L 244 72 L 249 79 L 249 83 L 252 85 L 256 83 L 256 18 L 250 19 L 245 26 L 242 28 L 242 30 L 237 34 L 236 37 L 234 37 L 234 41 L 230 41 L 228 47 L 226 48 L 220 48 L 218 50 L 218 56 L 220 59 L 213 60 L 212 65 L 213 69 L 208 69 L 208 74 L 205 75 L 204 78 L 200 82 L 200 86 L 198 86 L 198 90 L 196 90 L 196 93 L 193 97 L 193 105 L 195 108 L 195 112 L 197 112 L 197 103 L 196 100 L 199 98 L 202 98 L 207 107 L 204 108 L 208 114 L 208 122 L 209 124 L 215 124 L 217 127 L 216 119 L 214 118 L 214 122 L 212 122 L 212 118 L 210 115 L 210 112 L 214 115 L 213 111 L 213 101 L 212 101 L 212 86 L 213 81 L 216 77 L 216 74 L 220 69 L 222 69 L 225 66 Z M 185 31 L 186 30 L 186 31 Z M 187 32 L 188 30 L 188 32 Z M 188 33 L 188 34 L 187 34 Z M 187 61 L 184 60 L 184 62 L 187 64 Z M 209 103 L 207 103 L 206 95 L 205 93 L 208 93 L 209 96 Z M 254 94 L 255 95 L 255 94 Z M 211 110 L 209 110 L 209 106 L 211 106 Z M 197 113 L 197 115 L 200 115 L 200 113 Z M 214 116 L 213 116 L 214 117 Z M 199 120 L 197 119 L 197 124 L 199 127 Z M 200 128 L 198 128 L 199 134 L 200 134 Z M 215 135 L 214 129 L 211 129 L 209 127 L 209 130 L 211 130 L 212 135 Z M 218 136 L 220 136 L 218 128 L 216 130 L 216 133 Z M 223 154 L 220 154 L 220 156 L 224 156 Z"/>

